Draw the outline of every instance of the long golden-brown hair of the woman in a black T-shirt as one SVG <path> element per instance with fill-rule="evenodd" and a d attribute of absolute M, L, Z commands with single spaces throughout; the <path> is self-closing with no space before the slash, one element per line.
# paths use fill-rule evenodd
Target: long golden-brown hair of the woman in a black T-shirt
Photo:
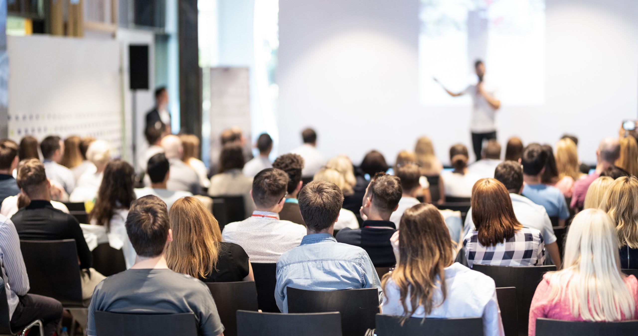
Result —
<path fill-rule="evenodd" d="M 173 241 L 166 254 L 168 268 L 191 277 L 205 278 L 219 257 L 219 223 L 204 204 L 186 196 L 175 201 L 168 214 Z"/>

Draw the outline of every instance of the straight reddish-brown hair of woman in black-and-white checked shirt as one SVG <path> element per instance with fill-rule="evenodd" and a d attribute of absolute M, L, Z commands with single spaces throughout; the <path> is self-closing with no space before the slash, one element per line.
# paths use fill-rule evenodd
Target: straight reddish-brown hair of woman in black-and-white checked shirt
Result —
<path fill-rule="evenodd" d="M 523 228 L 514 215 L 510 194 L 496 179 L 480 179 L 474 184 L 471 206 L 472 221 L 483 246 L 503 243 Z"/>

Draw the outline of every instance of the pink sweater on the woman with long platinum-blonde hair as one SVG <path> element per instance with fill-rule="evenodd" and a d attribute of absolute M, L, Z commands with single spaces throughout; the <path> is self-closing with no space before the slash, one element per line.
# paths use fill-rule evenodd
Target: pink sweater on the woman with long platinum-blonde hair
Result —
<path fill-rule="evenodd" d="M 634 302 L 638 303 L 638 280 L 634 275 L 629 275 L 625 278 L 625 284 L 629 289 L 629 292 L 634 296 Z M 569 285 L 568 285 L 569 286 Z M 569 307 L 569 299 L 563 297 L 558 302 L 553 303 L 549 300 L 549 293 L 551 293 L 551 287 L 549 286 L 549 280 L 547 275 L 543 277 L 543 280 L 538 284 L 534 298 L 531 300 L 530 307 L 530 324 L 528 329 L 528 335 L 536 335 L 536 319 L 548 318 L 548 319 L 561 319 L 563 321 L 584 321 L 580 316 L 574 318 Z M 622 320 L 635 319 L 635 316 L 623 316 Z"/>

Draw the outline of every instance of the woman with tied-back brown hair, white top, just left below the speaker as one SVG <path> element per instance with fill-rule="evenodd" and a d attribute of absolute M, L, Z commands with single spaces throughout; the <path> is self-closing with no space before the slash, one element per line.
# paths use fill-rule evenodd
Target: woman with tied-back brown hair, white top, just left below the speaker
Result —
<path fill-rule="evenodd" d="M 468 147 L 457 143 L 450 148 L 450 163 L 454 170 L 443 172 L 441 178 L 445 185 L 445 196 L 470 198 L 472 187 L 480 179 L 478 175 L 468 172 Z"/>

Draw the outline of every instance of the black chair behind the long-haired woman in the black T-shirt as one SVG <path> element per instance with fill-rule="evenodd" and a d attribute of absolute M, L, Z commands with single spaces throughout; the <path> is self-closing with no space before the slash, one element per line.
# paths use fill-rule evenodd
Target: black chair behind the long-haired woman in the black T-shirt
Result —
<path fill-rule="evenodd" d="M 255 281 L 206 282 L 217 305 L 225 336 L 237 335 L 237 310 L 257 311 Z"/>

